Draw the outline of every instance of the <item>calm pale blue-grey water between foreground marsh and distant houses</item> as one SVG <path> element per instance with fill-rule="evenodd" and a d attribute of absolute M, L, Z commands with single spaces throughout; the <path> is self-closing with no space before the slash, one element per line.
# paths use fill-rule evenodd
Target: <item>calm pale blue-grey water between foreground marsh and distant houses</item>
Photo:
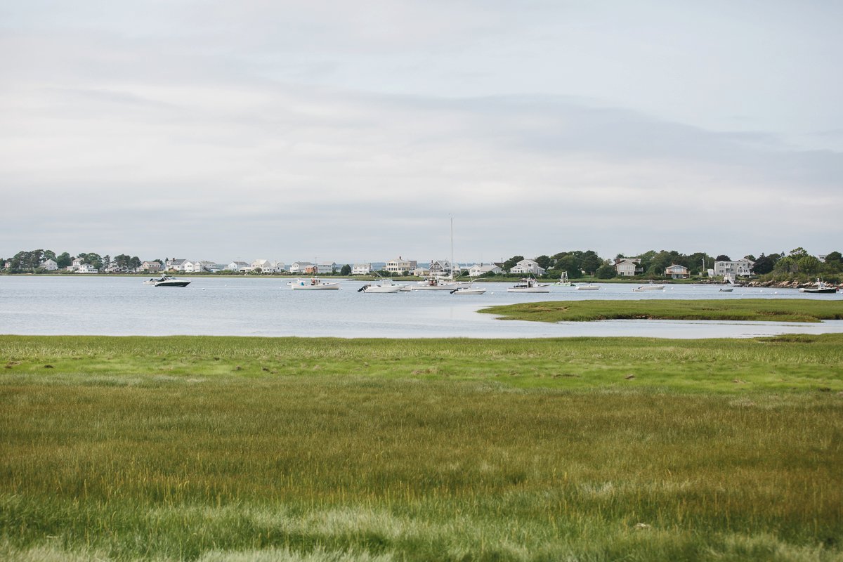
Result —
<path fill-rule="evenodd" d="M 540 338 L 636 335 L 664 338 L 751 337 L 843 332 L 843 321 L 822 324 L 610 320 L 542 324 L 502 321 L 476 310 L 496 304 L 550 300 L 652 298 L 799 298 L 794 289 L 741 289 L 668 285 L 632 292 L 635 285 L 606 284 L 599 291 L 552 287 L 549 294 L 507 293 L 512 283 L 487 283 L 484 295 L 448 292 L 293 291 L 287 280 L 185 277 L 185 288 L 144 286 L 142 279 L 103 276 L 0 276 L 0 334 L 18 335 L 260 335 L 342 338 Z"/>

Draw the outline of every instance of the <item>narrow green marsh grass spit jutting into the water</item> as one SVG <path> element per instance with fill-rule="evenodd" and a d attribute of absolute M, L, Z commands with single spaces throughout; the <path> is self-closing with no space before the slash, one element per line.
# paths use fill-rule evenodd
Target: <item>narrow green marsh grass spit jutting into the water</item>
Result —
<path fill-rule="evenodd" d="M 728 300 L 554 301 L 484 308 L 506 320 L 587 322 L 612 319 L 819 322 L 843 319 L 843 301 L 736 298 Z"/>

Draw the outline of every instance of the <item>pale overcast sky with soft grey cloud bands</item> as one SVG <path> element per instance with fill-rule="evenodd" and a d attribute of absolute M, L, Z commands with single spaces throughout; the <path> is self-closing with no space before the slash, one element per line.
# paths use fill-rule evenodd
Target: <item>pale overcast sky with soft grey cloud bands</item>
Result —
<path fill-rule="evenodd" d="M 843 3 L 0 0 L 0 257 L 843 249 Z"/>

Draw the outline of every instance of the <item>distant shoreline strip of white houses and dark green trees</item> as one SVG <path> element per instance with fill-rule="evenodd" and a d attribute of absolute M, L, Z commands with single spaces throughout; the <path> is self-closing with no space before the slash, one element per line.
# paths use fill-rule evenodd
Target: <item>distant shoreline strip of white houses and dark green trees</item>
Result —
<path fill-rule="evenodd" d="M 636 256 L 617 254 L 613 259 L 601 258 L 592 250 L 574 250 L 532 259 L 515 255 L 502 262 L 451 264 L 450 260 L 405 259 L 398 256 L 383 262 L 337 264 L 278 260 L 230 261 L 217 263 L 207 260 L 156 259 L 140 260 L 137 256 L 120 254 L 115 257 L 95 253 L 56 254 L 51 250 L 20 251 L 8 259 L 0 259 L 4 274 L 67 273 L 67 274 L 181 274 L 222 275 L 291 275 L 291 276 L 458 276 L 471 278 L 494 276 L 536 276 L 572 279 L 663 278 L 688 279 L 708 277 L 737 279 L 750 276 L 776 276 L 781 279 L 825 276 L 830 282 L 840 282 L 843 261 L 839 251 L 811 255 L 803 248 L 787 254 L 746 255 L 731 259 L 728 255 L 711 256 L 705 253 L 680 254 L 675 250 L 650 250 Z"/>

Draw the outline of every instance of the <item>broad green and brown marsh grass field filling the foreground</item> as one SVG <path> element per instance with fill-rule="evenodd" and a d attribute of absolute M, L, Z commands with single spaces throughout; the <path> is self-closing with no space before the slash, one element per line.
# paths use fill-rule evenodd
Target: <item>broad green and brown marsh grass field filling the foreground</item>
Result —
<path fill-rule="evenodd" d="M 0 559 L 843 559 L 843 335 L 0 357 Z"/>

